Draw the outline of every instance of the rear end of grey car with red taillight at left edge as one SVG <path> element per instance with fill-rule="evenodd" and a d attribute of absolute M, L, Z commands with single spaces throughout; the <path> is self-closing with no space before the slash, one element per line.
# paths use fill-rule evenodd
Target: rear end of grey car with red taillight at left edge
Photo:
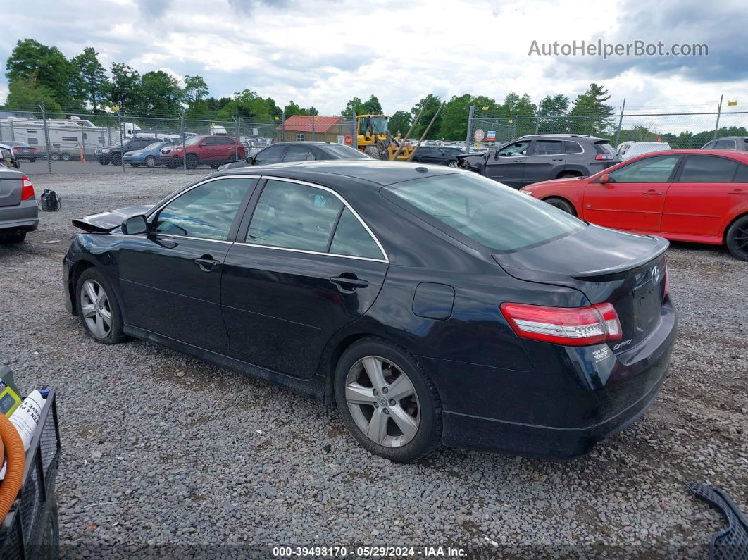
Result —
<path fill-rule="evenodd" d="M 0 165 L 0 243 L 20 243 L 39 225 L 34 186 L 15 169 Z"/>

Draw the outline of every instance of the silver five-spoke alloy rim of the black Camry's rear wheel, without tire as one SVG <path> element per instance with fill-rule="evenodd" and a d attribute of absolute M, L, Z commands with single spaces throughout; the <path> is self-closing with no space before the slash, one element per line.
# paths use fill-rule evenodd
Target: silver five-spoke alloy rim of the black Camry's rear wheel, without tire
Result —
<path fill-rule="evenodd" d="M 361 358 L 349 369 L 346 404 L 358 429 L 384 447 L 404 446 L 420 426 L 420 404 L 412 381 L 382 357 Z"/>

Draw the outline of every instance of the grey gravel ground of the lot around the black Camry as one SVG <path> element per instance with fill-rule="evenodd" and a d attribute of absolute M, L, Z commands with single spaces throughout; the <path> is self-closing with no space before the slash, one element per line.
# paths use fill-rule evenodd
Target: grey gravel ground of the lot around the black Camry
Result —
<path fill-rule="evenodd" d="M 373 544 L 705 559 L 722 521 L 683 481 L 723 487 L 748 510 L 748 263 L 669 250 L 680 313 L 669 379 L 647 416 L 592 454 L 552 463 L 441 449 L 402 466 L 364 452 L 333 407 L 147 342 L 98 345 L 64 310 L 71 218 L 155 203 L 203 173 L 32 176 L 37 196 L 58 191 L 61 212 L 0 247 L 0 360 L 22 390 L 58 390 L 66 556 Z"/>

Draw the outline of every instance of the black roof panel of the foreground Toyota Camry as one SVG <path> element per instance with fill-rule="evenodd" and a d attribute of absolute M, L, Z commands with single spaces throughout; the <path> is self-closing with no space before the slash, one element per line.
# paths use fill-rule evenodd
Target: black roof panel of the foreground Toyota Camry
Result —
<path fill-rule="evenodd" d="M 470 173 L 470 171 L 445 167 L 444 165 L 427 165 L 405 161 L 378 161 L 375 159 L 327 159 L 322 161 L 294 161 L 263 165 L 262 167 L 235 167 L 221 172 L 221 175 L 242 173 L 247 175 L 273 175 L 288 179 L 325 182 L 325 177 L 349 177 L 361 179 L 381 187 L 396 182 L 422 179 L 426 176 L 450 175 L 452 173 Z"/>

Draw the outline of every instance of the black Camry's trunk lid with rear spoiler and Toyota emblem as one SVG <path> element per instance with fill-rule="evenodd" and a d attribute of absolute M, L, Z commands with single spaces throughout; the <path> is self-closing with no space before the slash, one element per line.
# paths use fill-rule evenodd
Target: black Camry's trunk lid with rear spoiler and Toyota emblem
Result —
<path fill-rule="evenodd" d="M 590 304 L 612 304 L 622 338 L 610 342 L 610 348 L 619 352 L 646 339 L 659 324 L 668 245 L 659 237 L 590 224 L 539 247 L 496 254 L 494 260 L 520 280 L 568 286 Z M 580 298 L 579 305 L 585 304 Z"/>

